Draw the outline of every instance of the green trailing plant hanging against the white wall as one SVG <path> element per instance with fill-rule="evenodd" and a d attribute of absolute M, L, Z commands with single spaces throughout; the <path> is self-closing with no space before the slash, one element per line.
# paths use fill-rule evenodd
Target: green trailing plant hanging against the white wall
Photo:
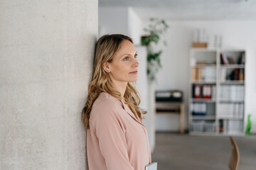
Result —
<path fill-rule="evenodd" d="M 148 52 L 147 75 L 151 81 L 154 81 L 156 79 L 156 72 L 158 72 L 159 68 L 161 68 L 160 55 L 162 50 L 154 50 L 152 43 L 157 45 L 161 35 L 166 33 L 169 26 L 163 19 L 149 18 L 149 21 L 149 28 L 144 28 L 149 35 L 142 36 L 142 45 L 146 45 Z M 164 45 L 166 45 L 166 41 L 164 41 Z"/>

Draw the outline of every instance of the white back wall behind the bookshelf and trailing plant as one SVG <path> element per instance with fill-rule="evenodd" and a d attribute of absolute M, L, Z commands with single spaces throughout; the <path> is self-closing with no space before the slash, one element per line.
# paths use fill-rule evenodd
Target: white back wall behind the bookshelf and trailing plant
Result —
<path fill-rule="evenodd" d="M 223 47 L 245 49 L 245 114 L 252 114 L 252 132 L 256 132 L 256 21 L 168 21 L 166 35 L 168 47 L 163 49 L 163 69 L 158 74 L 156 89 L 181 89 L 186 102 L 186 125 L 188 118 L 188 55 L 193 41 L 194 28 L 206 28 L 209 33 L 223 35 Z M 144 23 L 144 27 L 148 23 Z M 164 117 L 165 116 L 165 117 Z M 157 115 L 157 130 L 178 130 L 178 115 Z"/>

